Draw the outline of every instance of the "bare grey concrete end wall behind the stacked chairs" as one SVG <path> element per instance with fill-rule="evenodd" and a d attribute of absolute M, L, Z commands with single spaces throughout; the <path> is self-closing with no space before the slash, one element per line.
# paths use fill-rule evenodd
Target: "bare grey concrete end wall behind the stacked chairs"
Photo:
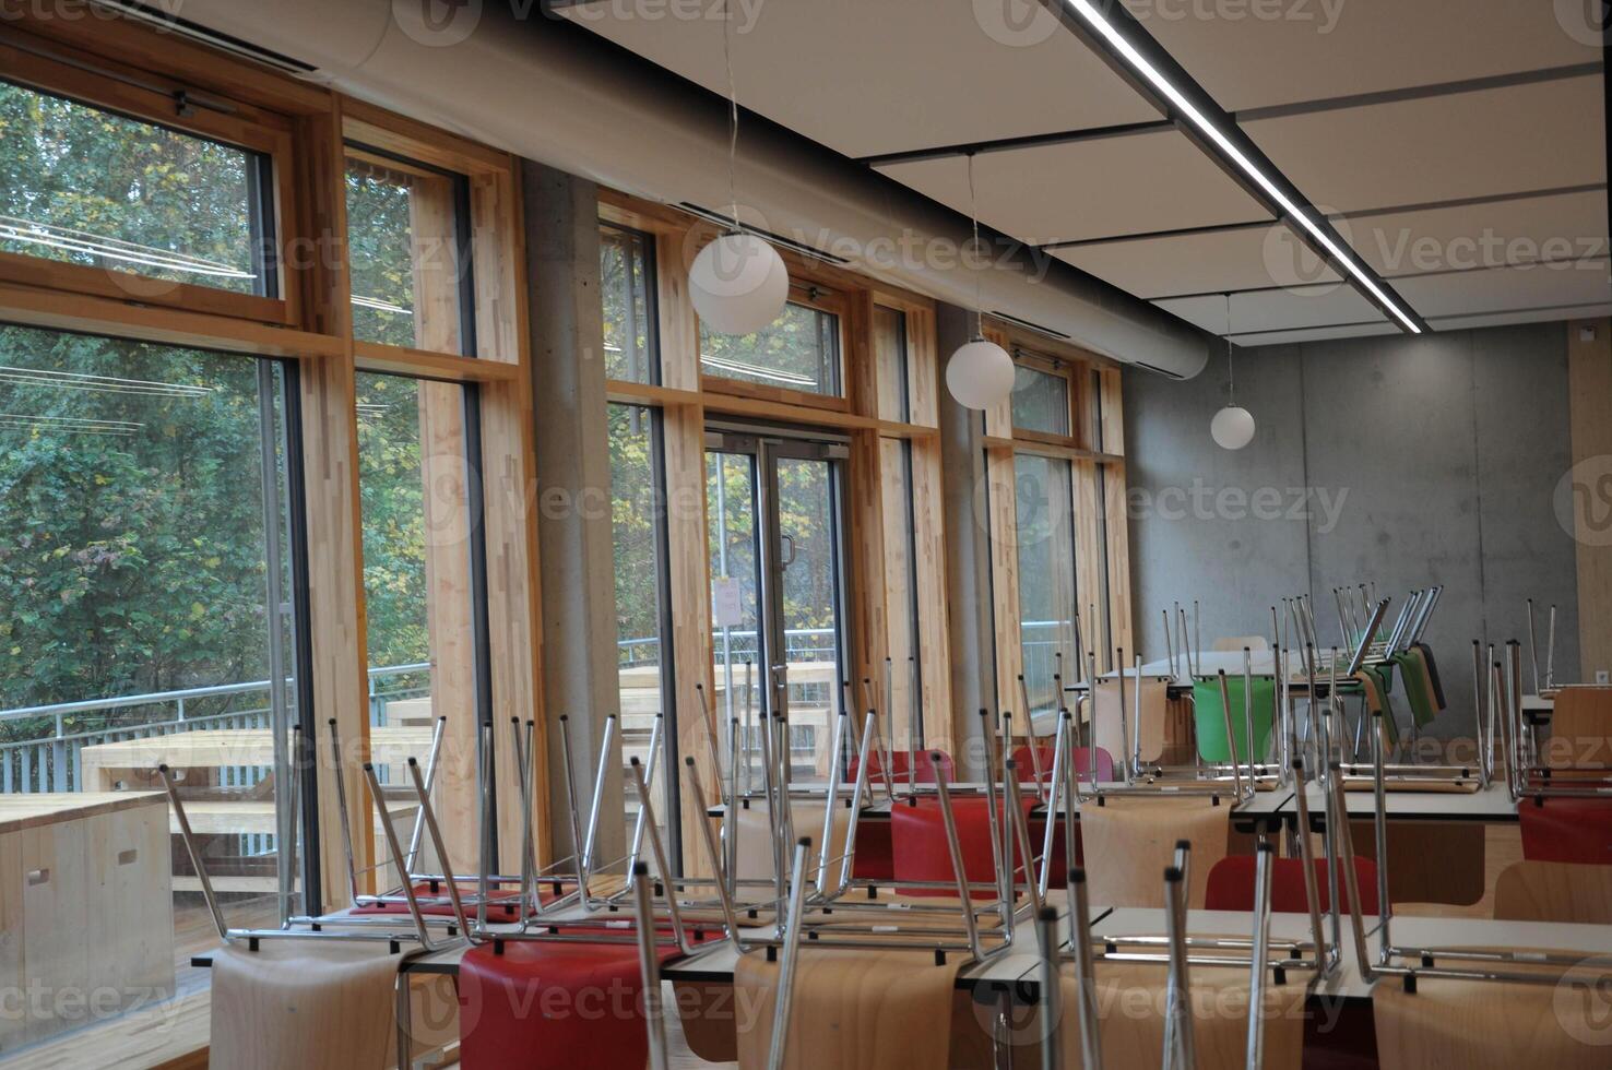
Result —
<path fill-rule="evenodd" d="M 1527 641 L 1530 596 L 1541 661 L 1556 603 L 1557 678 L 1580 678 L 1573 541 L 1551 506 L 1572 464 L 1562 324 L 1240 350 L 1236 398 L 1259 430 L 1235 453 L 1209 438 L 1225 387 L 1224 355 L 1191 382 L 1125 372 L 1146 657 L 1164 656 L 1175 599 L 1203 601 L 1207 646 L 1269 635 L 1270 606 L 1309 593 L 1330 641 L 1332 588 L 1375 579 L 1390 614 L 1446 585 L 1425 633 L 1454 714 L 1441 735 L 1470 725 L 1470 641 Z"/>

